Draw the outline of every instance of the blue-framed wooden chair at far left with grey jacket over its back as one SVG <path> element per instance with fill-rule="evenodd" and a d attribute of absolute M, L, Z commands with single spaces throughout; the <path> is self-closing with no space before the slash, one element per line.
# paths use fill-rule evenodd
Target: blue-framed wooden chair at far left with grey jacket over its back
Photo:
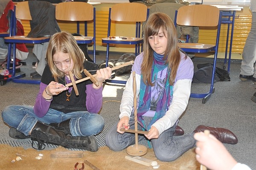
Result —
<path fill-rule="evenodd" d="M 12 29 L 16 28 L 16 22 L 18 20 L 32 20 L 30 10 L 29 10 L 29 2 L 19 2 L 14 7 L 14 16 L 12 20 Z M 13 61 L 16 59 L 16 43 L 32 43 L 32 44 L 40 44 L 48 42 L 50 37 L 26 37 L 26 36 L 17 36 L 15 30 L 12 31 L 13 34 L 10 37 L 5 37 L 5 42 L 9 43 L 8 48 L 8 57 L 7 60 L 9 63 L 12 59 Z M 13 52 L 12 52 L 13 50 Z M 26 76 L 25 73 L 21 75 L 15 75 L 15 66 L 12 69 L 12 81 L 15 83 L 28 83 L 28 84 L 40 84 L 40 80 L 32 80 L 32 79 L 20 79 Z"/>

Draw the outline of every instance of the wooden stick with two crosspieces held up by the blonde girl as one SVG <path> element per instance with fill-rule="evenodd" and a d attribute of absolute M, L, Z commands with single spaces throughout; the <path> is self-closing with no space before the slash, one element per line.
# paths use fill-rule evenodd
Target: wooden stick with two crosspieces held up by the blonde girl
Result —
<path fill-rule="evenodd" d="M 113 70 L 116 70 L 116 69 L 120 69 L 120 68 L 122 68 L 122 67 L 124 67 L 124 66 L 129 66 L 129 65 L 131 65 L 131 64 L 133 64 L 133 63 L 134 63 L 134 61 L 129 61 L 129 62 L 123 63 L 123 64 L 121 64 L 121 65 L 119 65 L 119 66 L 115 66 L 115 67 L 112 68 L 112 71 L 113 71 Z M 74 77 L 73 77 L 73 73 L 72 73 L 71 71 L 69 71 L 71 83 L 66 84 L 66 86 L 71 86 L 71 85 L 73 85 L 73 88 L 74 88 L 74 91 L 75 91 L 76 95 L 79 95 L 79 92 L 78 92 L 78 89 L 77 89 L 77 87 L 76 87 L 76 84 L 77 84 L 77 83 L 80 83 L 80 82 L 82 82 L 82 81 L 86 81 L 86 80 L 89 80 L 89 79 L 90 79 L 90 80 L 93 82 L 93 84 L 95 84 L 96 86 L 99 86 L 99 82 L 98 82 L 97 79 L 95 78 L 95 77 L 97 76 L 96 74 L 95 74 L 95 75 L 91 75 L 90 72 L 88 72 L 86 69 L 84 69 L 84 74 L 87 76 L 86 78 L 82 78 L 82 79 L 80 79 L 80 80 L 75 81 L 75 79 L 74 79 Z"/>

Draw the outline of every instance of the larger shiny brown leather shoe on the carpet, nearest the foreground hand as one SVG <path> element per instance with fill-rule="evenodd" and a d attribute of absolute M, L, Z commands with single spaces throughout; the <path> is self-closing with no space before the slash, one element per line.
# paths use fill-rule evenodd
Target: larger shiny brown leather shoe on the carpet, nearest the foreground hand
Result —
<path fill-rule="evenodd" d="M 238 139 L 236 135 L 228 129 L 219 127 L 209 127 L 204 125 L 199 125 L 195 130 L 196 132 L 204 132 L 204 130 L 209 130 L 212 135 L 215 136 L 219 141 L 226 144 L 237 144 Z"/>

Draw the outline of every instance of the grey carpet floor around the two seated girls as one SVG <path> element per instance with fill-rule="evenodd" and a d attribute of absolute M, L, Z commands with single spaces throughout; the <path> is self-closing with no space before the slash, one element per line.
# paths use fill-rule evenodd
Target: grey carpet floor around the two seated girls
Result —
<path fill-rule="evenodd" d="M 118 59 L 121 54 L 111 54 L 111 59 Z M 96 63 L 105 59 L 104 52 L 96 56 Z M 26 66 L 22 66 L 21 72 L 26 72 L 29 77 L 32 69 L 32 62 L 36 58 L 29 55 Z M 195 64 L 209 63 L 210 59 L 194 58 Z M 230 67 L 231 81 L 215 83 L 215 92 L 206 104 L 202 104 L 202 99 L 190 98 L 186 111 L 180 117 L 179 125 L 185 134 L 192 133 L 195 128 L 204 124 L 213 127 L 227 128 L 235 133 L 239 139 L 236 145 L 225 144 L 230 153 L 237 161 L 249 165 L 256 170 L 256 103 L 250 100 L 256 92 L 256 85 L 252 81 L 242 82 L 239 79 L 241 61 L 232 61 Z M 218 67 L 222 68 L 223 61 L 219 60 Z M 126 79 L 128 75 L 119 78 Z M 33 105 L 39 89 L 37 84 L 17 84 L 8 82 L 0 86 L 0 111 L 11 104 Z M 105 146 L 105 135 L 108 130 L 118 121 L 119 105 L 122 98 L 124 86 L 116 84 L 105 84 L 103 89 L 103 106 L 100 114 L 105 118 L 103 131 L 96 136 L 99 146 Z M 192 92 L 207 92 L 209 84 L 192 84 Z M 31 148 L 31 140 L 16 140 L 9 137 L 9 127 L 0 118 L 0 143 L 11 146 L 22 146 L 25 149 Z M 146 143 L 145 143 L 146 144 Z M 55 145 L 50 145 L 46 149 L 53 149 Z"/>

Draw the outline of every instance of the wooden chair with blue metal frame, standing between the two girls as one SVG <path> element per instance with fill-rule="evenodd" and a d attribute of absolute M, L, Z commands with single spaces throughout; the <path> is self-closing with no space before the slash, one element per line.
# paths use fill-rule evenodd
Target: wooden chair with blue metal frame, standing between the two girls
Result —
<path fill-rule="evenodd" d="M 141 35 L 141 23 L 147 20 L 147 6 L 141 3 L 118 3 L 109 9 L 108 37 L 102 38 L 102 43 L 107 44 L 106 67 L 108 66 L 110 44 L 135 45 L 135 56 L 142 51 L 143 38 Z M 111 24 L 134 24 L 135 29 L 130 30 L 134 36 L 111 35 Z M 141 47 L 141 48 L 140 48 Z M 126 84 L 126 81 L 108 79 L 106 82 Z"/>

